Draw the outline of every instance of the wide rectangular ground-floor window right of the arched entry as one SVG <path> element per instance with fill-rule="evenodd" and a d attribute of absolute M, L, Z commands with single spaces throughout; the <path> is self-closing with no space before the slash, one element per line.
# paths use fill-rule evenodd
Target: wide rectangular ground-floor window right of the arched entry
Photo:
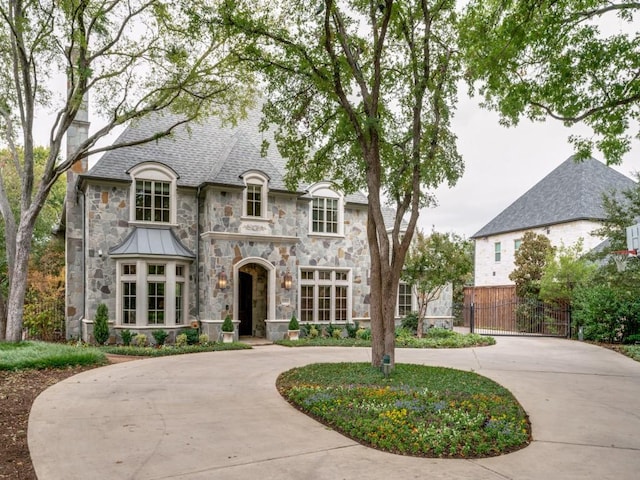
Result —
<path fill-rule="evenodd" d="M 300 270 L 300 320 L 347 322 L 351 315 L 351 272 L 348 269 Z"/>

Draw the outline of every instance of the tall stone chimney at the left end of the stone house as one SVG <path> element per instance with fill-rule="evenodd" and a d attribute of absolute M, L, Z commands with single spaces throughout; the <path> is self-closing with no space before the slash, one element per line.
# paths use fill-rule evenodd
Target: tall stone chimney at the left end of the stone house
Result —
<path fill-rule="evenodd" d="M 88 98 L 85 95 L 75 120 L 67 130 L 67 158 L 89 135 Z M 82 158 L 67 171 L 65 201 L 65 316 L 67 338 L 82 336 L 85 305 L 84 197 L 77 191 L 78 176 L 87 171 L 88 159 Z"/>

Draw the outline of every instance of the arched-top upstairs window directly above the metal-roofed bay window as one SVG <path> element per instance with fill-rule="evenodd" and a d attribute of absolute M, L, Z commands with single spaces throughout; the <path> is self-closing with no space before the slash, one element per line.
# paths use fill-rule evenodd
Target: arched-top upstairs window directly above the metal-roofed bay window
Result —
<path fill-rule="evenodd" d="M 177 174 L 169 167 L 145 162 L 128 171 L 131 175 L 131 222 L 176 223 Z"/>

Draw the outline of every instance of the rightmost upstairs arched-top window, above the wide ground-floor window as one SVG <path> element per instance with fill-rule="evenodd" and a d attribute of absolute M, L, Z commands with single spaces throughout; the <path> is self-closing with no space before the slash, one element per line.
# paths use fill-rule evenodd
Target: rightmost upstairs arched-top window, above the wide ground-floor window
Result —
<path fill-rule="evenodd" d="M 315 235 L 344 234 L 344 198 L 326 182 L 309 189 L 309 232 Z"/>

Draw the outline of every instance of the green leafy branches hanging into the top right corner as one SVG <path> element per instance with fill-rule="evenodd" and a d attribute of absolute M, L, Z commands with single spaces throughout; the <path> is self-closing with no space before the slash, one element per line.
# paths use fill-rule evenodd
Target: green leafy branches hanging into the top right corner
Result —
<path fill-rule="evenodd" d="M 638 2 L 472 0 L 460 43 L 472 91 L 507 125 L 584 123 L 594 135 L 570 137 L 578 158 L 596 147 L 620 163 L 640 115 L 639 13 Z"/>

